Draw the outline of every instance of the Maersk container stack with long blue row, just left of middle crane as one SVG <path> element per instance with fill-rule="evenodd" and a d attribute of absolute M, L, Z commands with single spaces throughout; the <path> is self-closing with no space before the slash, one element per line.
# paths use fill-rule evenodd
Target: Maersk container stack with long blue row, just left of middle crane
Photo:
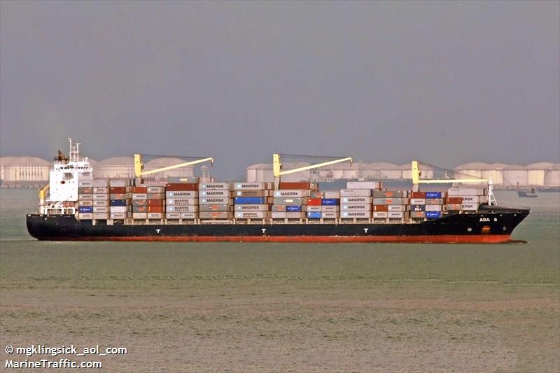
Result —
<path fill-rule="evenodd" d="M 233 196 L 236 219 L 268 219 L 273 183 L 234 183 Z"/>

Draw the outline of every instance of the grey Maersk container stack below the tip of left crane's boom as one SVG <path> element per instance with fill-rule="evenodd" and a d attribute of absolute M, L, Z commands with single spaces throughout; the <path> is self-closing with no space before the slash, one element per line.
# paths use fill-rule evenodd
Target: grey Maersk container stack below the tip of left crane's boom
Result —
<path fill-rule="evenodd" d="M 232 219 L 233 199 L 230 183 L 200 183 L 200 219 Z"/>

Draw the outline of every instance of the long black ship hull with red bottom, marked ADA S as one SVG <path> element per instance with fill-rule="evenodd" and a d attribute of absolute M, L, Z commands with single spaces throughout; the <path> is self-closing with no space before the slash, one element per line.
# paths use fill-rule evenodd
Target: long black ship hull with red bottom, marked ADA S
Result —
<path fill-rule="evenodd" d="M 27 215 L 32 237 L 50 241 L 246 241 L 503 243 L 530 213 L 481 206 L 421 223 L 201 223 L 124 224 L 78 220 L 73 215 Z"/>

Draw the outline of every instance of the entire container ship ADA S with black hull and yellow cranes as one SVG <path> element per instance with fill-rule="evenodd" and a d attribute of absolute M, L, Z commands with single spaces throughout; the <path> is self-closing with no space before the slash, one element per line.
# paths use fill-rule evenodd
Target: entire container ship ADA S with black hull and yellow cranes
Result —
<path fill-rule="evenodd" d="M 29 234 L 39 240 L 506 243 L 530 213 L 496 204 L 491 180 L 423 179 L 416 161 L 412 190 L 386 190 L 379 181 L 349 181 L 340 190 L 282 181 L 351 158 L 286 170 L 279 154 L 273 155 L 274 183 L 193 177 L 146 183 L 149 174 L 213 160 L 144 171 L 135 155 L 134 179 L 95 178 L 79 144 L 69 143 L 69 157 L 59 151 L 39 191 L 39 213 L 27 215 Z M 451 186 L 421 190 L 442 183 Z M 473 183 L 483 185 L 461 186 Z"/>

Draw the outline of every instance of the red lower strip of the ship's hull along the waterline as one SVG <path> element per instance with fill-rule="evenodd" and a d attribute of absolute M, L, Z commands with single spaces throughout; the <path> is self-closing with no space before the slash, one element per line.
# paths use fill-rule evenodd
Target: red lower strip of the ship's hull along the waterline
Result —
<path fill-rule="evenodd" d="M 131 236 L 131 237 L 60 237 L 52 241 L 171 241 L 171 242 L 393 242 L 424 244 L 503 244 L 509 235 L 437 235 L 437 236 Z"/>

